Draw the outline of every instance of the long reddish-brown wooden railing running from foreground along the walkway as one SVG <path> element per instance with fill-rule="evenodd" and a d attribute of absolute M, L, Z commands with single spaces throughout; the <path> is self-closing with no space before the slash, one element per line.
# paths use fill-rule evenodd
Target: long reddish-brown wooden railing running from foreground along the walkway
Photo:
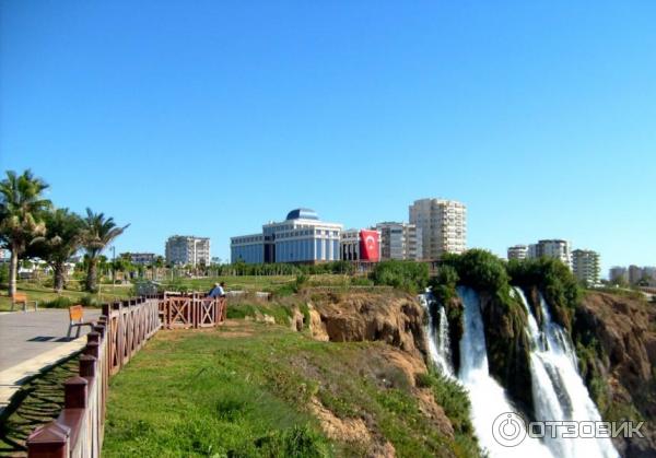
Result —
<path fill-rule="evenodd" d="M 63 410 L 27 438 L 28 457 L 98 457 L 103 445 L 109 375 L 116 374 L 160 329 L 159 297 L 103 306 L 86 337 L 80 375 L 63 384 Z"/>

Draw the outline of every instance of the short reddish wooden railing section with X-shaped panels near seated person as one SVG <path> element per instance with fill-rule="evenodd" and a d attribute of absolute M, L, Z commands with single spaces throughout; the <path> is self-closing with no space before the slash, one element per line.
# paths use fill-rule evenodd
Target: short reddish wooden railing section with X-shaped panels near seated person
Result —
<path fill-rule="evenodd" d="M 225 320 L 224 297 L 192 294 L 164 294 L 160 300 L 160 317 L 167 329 L 208 328 Z"/>

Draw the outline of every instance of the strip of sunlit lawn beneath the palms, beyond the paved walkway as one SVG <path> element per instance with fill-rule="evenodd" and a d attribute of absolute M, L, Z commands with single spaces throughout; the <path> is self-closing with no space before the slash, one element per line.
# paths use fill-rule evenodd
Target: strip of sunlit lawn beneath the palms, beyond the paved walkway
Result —
<path fill-rule="evenodd" d="M 65 290 L 61 294 L 57 294 L 51 287 L 44 286 L 37 282 L 20 281 L 17 284 L 17 291 L 25 293 L 28 301 L 38 301 L 39 307 L 47 307 L 48 303 L 54 303 L 57 300 L 65 298 L 69 300 L 72 304 L 80 304 L 84 301 L 84 297 L 89 297 L 95 303 L 115 301 L 120 298 L 130 297 L 132 291 L 129 286 L 110 285 L 104 284 L 101 286 L 99 294 L 89 294 L 82 291 Z M 55 305 L 55 304 L 52 304 Z M 61 305 L 68 307 L 66 301 L 61 301 Z M 33 306 L 33 304 L 30 304 Z M 19 305 L 22 307 L 22 304 Z M 11 297 L 7 295 L 7 292 L 0 296 L 0 312 L 11 310 Z"/>

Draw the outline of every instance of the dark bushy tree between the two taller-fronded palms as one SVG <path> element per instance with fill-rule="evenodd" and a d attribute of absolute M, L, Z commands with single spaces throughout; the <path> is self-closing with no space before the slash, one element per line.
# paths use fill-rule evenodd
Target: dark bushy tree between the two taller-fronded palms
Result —
<path fill-rule="evenodd" d="M 61 293 L 66 285 L 66 263 L 82 246 L 82 219 L 68 209 L 44 214 L 46 235 L 28 250 L 45 260 L 54 270 L 52 287 Z"/>

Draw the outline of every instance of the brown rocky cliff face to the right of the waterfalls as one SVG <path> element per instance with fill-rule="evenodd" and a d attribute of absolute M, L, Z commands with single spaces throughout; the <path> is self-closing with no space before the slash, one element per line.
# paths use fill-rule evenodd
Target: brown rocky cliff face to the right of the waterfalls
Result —
<path fill-rule="evenodd" d="M 645 438 L 616 441 L 628 457 L 656 454 L 656 307 L 623 296 L 588 293 L 573 337 L 582 373 L 605 420 L 644 420 Z"/>

